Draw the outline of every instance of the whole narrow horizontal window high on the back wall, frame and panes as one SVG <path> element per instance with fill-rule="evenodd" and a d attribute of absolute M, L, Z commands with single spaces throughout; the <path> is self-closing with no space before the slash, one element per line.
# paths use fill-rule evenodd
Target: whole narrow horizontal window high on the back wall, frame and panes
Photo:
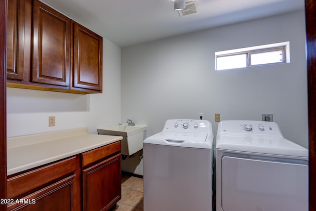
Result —
<path fill-rule="evenodd" d="M 215 52 L 216 70 L 289 63 L 289 42 Z"/>

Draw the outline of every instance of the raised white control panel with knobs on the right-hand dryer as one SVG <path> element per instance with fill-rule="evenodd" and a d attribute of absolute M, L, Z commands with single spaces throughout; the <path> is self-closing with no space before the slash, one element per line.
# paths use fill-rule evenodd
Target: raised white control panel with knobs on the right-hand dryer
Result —
<path fill-rule="evenodd" d="M 218 126 L 218 130 L 218 132 L 221 133 L 247 133 L 282 136 L 276 123 L 264 121 L 222 121 Z"/>

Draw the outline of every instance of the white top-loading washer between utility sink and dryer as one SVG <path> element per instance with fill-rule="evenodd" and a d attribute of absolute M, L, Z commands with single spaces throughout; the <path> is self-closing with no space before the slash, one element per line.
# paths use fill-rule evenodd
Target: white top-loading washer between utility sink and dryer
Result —
<path fill-rule="evenodd" d="M 167 120 L 143 144 L 145 211 L 212 210 L 211 123 Z"/>

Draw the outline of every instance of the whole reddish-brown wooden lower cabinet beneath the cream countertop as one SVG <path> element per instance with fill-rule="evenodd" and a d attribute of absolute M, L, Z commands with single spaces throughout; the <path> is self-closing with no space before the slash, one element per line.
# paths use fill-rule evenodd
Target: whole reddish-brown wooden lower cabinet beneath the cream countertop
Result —
<path fill-rule="evenodd" d="M 7 210 L 108 211 L 121 198 L 120 156 L 117 141 L 9 175 Z"/>

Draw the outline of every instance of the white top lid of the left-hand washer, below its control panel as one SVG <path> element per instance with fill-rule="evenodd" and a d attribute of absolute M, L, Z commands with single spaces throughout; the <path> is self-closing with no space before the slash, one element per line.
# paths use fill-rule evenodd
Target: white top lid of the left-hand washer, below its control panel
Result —
<path fill-rule="evenodd" d="M 146 138 L 144 143 L 211 149 L 213 135 L 194 132 L 159 132 Z"/>

